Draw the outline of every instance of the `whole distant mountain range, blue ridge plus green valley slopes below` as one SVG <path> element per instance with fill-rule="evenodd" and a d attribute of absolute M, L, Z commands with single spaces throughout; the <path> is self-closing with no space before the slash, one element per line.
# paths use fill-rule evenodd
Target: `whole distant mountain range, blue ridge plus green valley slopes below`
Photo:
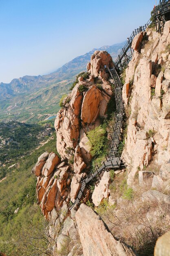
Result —
<path fill-rule="evenodd" d="M 0 121 L 34 123 L 57 113 L 62 94 L 69 91 L 75 75 L 86 70 L 95 50 L 106 50 L 115 60 L 124 44 L 125 42 L 94 48 L 51 74 L 23 76 L 10 83 L 0 83 Z"/>

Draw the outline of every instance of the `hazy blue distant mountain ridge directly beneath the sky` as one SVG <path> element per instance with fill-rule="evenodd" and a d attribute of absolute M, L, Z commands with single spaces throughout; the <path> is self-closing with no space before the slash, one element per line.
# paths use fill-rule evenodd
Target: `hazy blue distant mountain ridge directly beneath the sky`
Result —
<path fill-rule="evenodd" d="M 123 47 L 123 43 L 114 44 L 112 46 L 103 46 L 99 50 L 107 50 L 113 59 L 117 56 L 117 52 Z M 90 61 L 91 55 L 97 50 L 92 49 L 90 52 L 77 56 L 72 61 L 69 61 L 55 72 L 44 76 L 23 76 L 19 79 L 13 79 L 10 83 L 0 83 L 0 97 L 1 99 L 12 99 L 13 97 L 35 92 L 36 90 L 52 85 L 64 79 L 70 79 L 75 74 L 86 69 L 86 64 Z"/>

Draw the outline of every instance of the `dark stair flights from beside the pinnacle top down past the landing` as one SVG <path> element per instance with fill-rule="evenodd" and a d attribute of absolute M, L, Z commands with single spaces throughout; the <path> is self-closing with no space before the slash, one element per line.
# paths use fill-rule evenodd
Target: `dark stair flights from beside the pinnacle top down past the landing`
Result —
<path fill-rule="evenodd" d="M 119 144 L 122 136 L 122 126 L 123 126 L 123 118 L 124 118 L 124 103 L 122 100 L 122 84 L 117 74 L 117 71 L 114 67 L 108 68 L 108 72 L 110 73 L 111 78 L 113 79 L 113 83 L 115 86 L 115 99 L 116 99 L 116 113 L 115 113 L 115 125 L 113 128 L 113 134 L 111 136 L 111 142 L 109 145 L 110 151 L 108 156 L 106 157 L 106 161 L 102 162 L 100 166 L 96 166 L 96 171 L 94 173 L 90 173 L 87 177 L 80 180 L 82 183 L 77 198 L 75 199 L 74 204 L 70 207 L 72 209 L 75 204 L 80 204 L 81 199 L 84 195 L 84 191 L 93 181 L 97 181 L 97 179 L 101 179 L 101 174 L 103 171 L 108 171 L 110 168 L 120 168 L 123 165 L 121 157 L 119 155 Z M 83 200 L 82 200 L 83 201 Z"/>

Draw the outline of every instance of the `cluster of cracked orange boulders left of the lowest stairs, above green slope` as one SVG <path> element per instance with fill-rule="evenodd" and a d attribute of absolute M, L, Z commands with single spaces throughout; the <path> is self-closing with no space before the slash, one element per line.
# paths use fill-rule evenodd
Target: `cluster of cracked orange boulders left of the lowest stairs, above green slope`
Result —
<path fill-rule="evenodd" d="M 60 158 L 55 153 L 45 152 L 38 159 L 32 172 L 35 173 L 40 161 L 43 161 L 44 166 L 41 168 L 39 176 L 36 175 L 38 176 L 36 192 L 42 213 L 48 218 L 49 212 L 52 212 L 52 215 L 55 213 L 55 207 L 59 211 L 64 202 L 69 201 L 69 188 L 67 188 L 67 183 L 70 184 L 68 182 L 69 166 L 65 162 L 60 163 Z"/>

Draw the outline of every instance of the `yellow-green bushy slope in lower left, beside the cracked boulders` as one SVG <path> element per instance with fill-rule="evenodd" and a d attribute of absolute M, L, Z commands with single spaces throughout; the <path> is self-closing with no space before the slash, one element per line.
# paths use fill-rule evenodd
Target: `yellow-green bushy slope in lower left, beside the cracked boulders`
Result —
<path fill-rule="evenodd" d="M 20 158 L 18 166 L 11 168 L 6 180 L 0 183 L 0 252 L 8 256 L 30 256 L 35 252 L 35 255 L 51 255 L 47 253 L 50 245 L 45 234 L 47 223 L 36 204 L 36 178 L 31 169 L 45 151 L 57 153 L 55 143 L 56 137 L 31 155 Z M 18 207 L 18 213 L 14 214 Z"/>

